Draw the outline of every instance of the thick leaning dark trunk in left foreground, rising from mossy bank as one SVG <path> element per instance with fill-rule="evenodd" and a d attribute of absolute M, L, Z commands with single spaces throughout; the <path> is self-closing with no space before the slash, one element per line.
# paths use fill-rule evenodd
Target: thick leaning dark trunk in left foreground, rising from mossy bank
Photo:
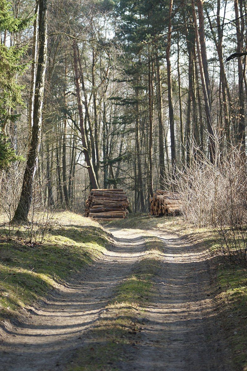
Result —
<path fill-rule="evenodd" d="M 44 97 L 45 72 L 47 60 L 47 7 L 46 0 L 39 0 L 39 56 L 35 86 L 32 139 L 27 155 L 27 164 L 24 171 L 22 192 L 14 221 L 27 221 L 32 202 L 33 179 L 37 170 L 42 128 L 42 107 Z"/>

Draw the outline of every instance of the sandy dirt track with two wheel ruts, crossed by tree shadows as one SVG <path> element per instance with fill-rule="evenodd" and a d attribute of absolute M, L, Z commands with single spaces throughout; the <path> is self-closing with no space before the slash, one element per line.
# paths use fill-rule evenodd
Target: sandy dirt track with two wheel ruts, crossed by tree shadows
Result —
<path fill-rule="evenodd" d="M 164 244 L 154 277 L 156 294 L 145 308 L 141 340 L 132 349 L 131 363 L 121 368 L 118 364 L 117 369 L 233 370 L 211 293 L 208 253 L 160 231 L 111 228 L 109 232 L 115 240 L 111 250 L 70 285 L 61 286 L 26 323 L 11 329 L 0 344 L 0 370 L 64 370 L 105 313 L 116 286 L 135 273 L 136 263 L 147 252 L 147 232 Z"/>

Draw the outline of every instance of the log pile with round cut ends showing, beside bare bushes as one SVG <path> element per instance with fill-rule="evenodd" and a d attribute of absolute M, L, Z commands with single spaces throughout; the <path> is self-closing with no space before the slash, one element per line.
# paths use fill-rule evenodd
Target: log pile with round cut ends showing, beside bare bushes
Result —
<path fill-rule="evenodd" d="M 158 189 L 153 197 L 149 198 L 151 215 L 180 214 L 182 210 L 182 197 L 175 192 Z"/>

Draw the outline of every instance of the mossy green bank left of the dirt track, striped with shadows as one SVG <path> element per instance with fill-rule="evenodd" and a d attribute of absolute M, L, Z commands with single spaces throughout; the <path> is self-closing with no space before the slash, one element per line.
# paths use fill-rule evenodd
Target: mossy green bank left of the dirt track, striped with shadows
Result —
<path fill-rule="evenodd" d="M 60 223 L 62 221 L 62 224 Z M 0 227 L 4 235 L 4 227 Z M 98 223 L 73 213 L 60 213 L 43 244 L 29 244 L 25 230 L 1 241 L 0 320 L 16 317 L 47 292 L 82 270 L 108 245 Z"/>

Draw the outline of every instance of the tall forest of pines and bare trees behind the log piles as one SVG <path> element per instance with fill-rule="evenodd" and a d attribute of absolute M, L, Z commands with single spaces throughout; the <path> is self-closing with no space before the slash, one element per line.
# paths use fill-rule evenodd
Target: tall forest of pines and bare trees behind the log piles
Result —
<path fill-rule="evenodd" d="M 244 156 L 246 14 L 245 0 L 0 0 L 1 209 L 26 220 L 35 191 L 37 208 L 83 211 L 89 188 L 121 187 L 144 212 L 191 162 Z"/>

